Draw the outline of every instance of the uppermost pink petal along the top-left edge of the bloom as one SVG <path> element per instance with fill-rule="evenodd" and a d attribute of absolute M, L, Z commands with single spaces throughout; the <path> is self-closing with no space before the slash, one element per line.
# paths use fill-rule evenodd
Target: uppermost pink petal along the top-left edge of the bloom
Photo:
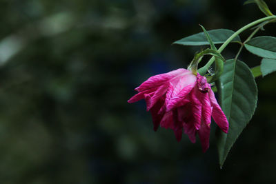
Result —
<path fill-rule="evenodd" d="M 190 71 L 183 68 L 179 68 L 177 70 L 173 70 L 166 74 L 157 74 L 155 76 L 151 76 L 148 80 L 144 81 L 144 83 L 142 83 L 135 90 L 137 90 L 138 92 L 142 92 L 150 88 L 157 88 L 160 85 L 163 85 L 164 83 L 168 82 L 170 79 L 173 79 L 175 76 L 184 74 L 186 72 L 190 72 Z"/>

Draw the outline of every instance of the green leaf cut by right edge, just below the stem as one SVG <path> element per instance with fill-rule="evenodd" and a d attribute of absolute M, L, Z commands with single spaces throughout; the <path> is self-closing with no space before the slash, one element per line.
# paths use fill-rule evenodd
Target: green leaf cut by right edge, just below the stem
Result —
<path fill-rule="evenodd" d="M 259 57 L 276 59 L 276 38 L 255 37 L 245 44 L 246 49 Z"/>

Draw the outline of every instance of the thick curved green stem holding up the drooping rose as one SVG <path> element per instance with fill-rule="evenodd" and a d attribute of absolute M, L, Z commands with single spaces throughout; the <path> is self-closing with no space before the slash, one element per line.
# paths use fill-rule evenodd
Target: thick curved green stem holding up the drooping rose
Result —
<path fill-rule="evenodd" d="M 221 53 L 224 48 L 226 48 L 226 46 L 233 40 L 235 39 L 235 37 L 237 37 L 239 34 L 241 34 L 242 32 L 244 32 L 244 30 L 247 30 L 248 28 L 252 27 L 253 25 L 256 25 L 258 23 L 262 23 L 264 21 L 268 21 L 270 19 L 276 19 L 276 16 L 270 16 L 270 17 L 264 17 L 262 19 L 258 19 L 257 21 L 253 21 L 251 23 L 248 23 L 247 25 L 245 25 L 244 27 L 240 28 L 239 30 L 237 30 L 237 32 L 235 32 L 234 34 L 232 34 L 232 36 L 230 36 L 225 42 L 224 44 L 221 45 L 221 47 L 219 48 L 219 50 L 217 50 L 219 53 Z M 204 67 L 199 69 L 199 73 L 200 74 L 205 74 L 208 70 L 208 68 L 210 68 L 210 66 L 213 64 L 213 62 L 215 61 L 215 57 L 212 57 L 208 63 L 206 63 L 206 65 L 204 65 Z"/>

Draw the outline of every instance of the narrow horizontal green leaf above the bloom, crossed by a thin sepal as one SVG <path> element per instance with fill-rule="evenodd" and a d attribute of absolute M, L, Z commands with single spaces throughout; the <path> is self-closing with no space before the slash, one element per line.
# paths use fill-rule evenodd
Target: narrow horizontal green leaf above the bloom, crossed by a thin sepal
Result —
<path fill-rule="evenodd" d="M 210 38 L 213 40 L 214 44 L 224 43 L 232 34 L 234 34 L 233 30 L 225 30 L 225 29 L 218 29 L 218 30 L 209 30 L 208 34 Z M 239 36 L 235 37 L 231 42 L 241 42 Z M 208 39 L 206 39 L 204 32 L 199 32 L 197 34 L 193 34 L 189 37 L 185 37 L 184 39 L 180 39 L 175 41 L 172 44 L 179 44 L 179 45 L 209 45 Z"/>

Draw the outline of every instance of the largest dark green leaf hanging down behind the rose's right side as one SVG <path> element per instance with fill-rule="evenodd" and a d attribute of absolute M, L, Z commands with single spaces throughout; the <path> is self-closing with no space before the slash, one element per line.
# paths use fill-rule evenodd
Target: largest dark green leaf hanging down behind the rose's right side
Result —
<path fill-rule="evenodd" d="M 229 122 L 228 134 L 221 130 L 217 134 L 219 165 L 222 167 L 230 148 L 255 112 L 257 85 L 250 68 L 235 59 L 226 61 L 224 73 L 216 85 L 221 109 Z"/>

